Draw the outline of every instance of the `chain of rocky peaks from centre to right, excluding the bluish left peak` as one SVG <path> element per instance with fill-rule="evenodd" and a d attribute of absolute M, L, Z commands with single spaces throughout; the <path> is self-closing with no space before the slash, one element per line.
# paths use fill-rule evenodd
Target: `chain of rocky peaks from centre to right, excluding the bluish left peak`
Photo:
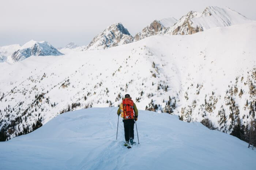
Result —
<path fill-rule="evenodd" d="M 226 27 L 236 24 L 250 23 L 252 20 L 230 8 L 209 6 L 203 12 L 189 11 L 179 20 L 173 17 L 154 20 L 134 37 L 121 23 L 110 25 L 99 33 L 88 46 L 77 48 L 75 51 L 102 50 L 122 44 L 131 43 L 153 35 L 190 35 L 215 27 Z M 65 47 L 69 48 L 68 45 Z M 72 49 L 73 47 L 69 48 Z"/>

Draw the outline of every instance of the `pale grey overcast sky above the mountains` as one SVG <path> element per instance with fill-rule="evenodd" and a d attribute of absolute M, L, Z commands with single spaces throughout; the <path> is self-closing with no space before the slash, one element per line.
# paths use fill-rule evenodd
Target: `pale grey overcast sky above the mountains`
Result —
<path fill-rule="evenodd" d="M 1 0 L 0 46 L 34 39 L 55 47 L 87 45 L 95 35 L 121 22 L 135 35 L 154 19 L 180 19 L 207 6 L 230 7 L 256 20 L 255 0 Z"/>

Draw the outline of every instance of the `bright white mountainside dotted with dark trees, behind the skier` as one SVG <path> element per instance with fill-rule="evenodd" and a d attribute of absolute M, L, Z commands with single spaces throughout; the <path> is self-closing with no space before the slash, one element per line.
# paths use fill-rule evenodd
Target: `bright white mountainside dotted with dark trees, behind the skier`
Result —
<path fill-rule="evenodd" d="M 1 63 L 0 127 L 12 138 L 38 119 L 45 124 L 68 108 L 118 106 L 130 93 L 140 110 L 157 105 L 157 112 L 209 119 L 230 133 L 255 119 L 254 32 L 256 23 L 233 25 Z"/>

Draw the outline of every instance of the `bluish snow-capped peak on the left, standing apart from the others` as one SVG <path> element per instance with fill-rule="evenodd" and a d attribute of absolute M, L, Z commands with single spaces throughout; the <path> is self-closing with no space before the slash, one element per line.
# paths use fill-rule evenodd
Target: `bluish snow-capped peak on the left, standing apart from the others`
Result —
<path fill-rule="evenodd" d="M 12 62 L 18 62 L 24 60 L 31 55 L 34 56 L 46 56 L 46 55 L 63 55 L 56 48 L 54 48 L 47 41 L 34 41 L 30 40 L 24 44 L 19 50 L 15 51 L 11 55 Z"/>

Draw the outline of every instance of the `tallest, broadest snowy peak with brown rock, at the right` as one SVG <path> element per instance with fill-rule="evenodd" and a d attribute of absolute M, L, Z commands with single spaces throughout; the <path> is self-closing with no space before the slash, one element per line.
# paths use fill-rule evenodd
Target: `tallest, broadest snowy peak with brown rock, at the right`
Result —
<path fill-rule="evenodd" d="M 230 8 L 209 6 L 203 12 L 189 11 L 168 31 L 171 35 L 189 35 L 215 27 L 251 23 L 252 20 Z"/>

